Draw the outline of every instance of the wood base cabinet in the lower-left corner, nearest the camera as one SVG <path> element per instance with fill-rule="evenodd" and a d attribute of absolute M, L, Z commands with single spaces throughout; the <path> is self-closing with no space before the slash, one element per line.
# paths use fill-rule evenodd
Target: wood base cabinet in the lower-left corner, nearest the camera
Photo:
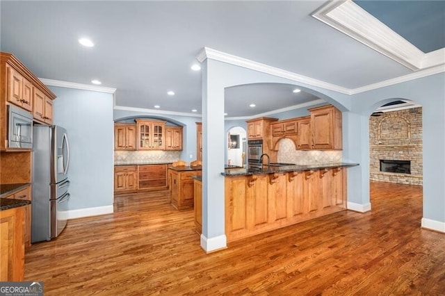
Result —
<path fill-rule="evenodd" d="M 0 281 L 24 281 L 24 221 L 30 206 L 0 211 Z"/>

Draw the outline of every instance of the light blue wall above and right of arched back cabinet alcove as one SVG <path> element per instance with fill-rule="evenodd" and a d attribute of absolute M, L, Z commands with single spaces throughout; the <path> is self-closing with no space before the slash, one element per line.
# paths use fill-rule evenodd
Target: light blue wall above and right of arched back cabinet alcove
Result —
<path fill-rule="evenodd" d="M 157 120 L 166 120 L 183 126 L 183 144 L 181 159 L 190 162 L 196 159 L 196 122 L 202 122 L 201 117 L 191 117 L 182 115 L 161 115 L 159 113 L 149 113 L 145 111 L 114 110 L 113 119 L 120 121 L 127 118 L 149 117 Z"/>

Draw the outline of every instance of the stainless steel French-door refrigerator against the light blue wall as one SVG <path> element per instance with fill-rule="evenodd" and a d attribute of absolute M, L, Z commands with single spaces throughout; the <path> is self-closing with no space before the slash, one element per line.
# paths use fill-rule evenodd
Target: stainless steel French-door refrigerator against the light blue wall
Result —
<path fill-rule="evenodd" d="M 31 242 L 51 240 L 67 224 L 70 146 L 60 126 L 33 126 Z"/>

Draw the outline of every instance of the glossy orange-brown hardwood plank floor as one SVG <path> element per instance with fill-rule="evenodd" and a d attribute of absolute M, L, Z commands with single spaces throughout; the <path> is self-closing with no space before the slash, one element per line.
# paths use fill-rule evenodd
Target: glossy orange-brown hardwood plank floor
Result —
<path fill-rule="evenodd" d="M 193 210 L 168 191 L 115 198 L 31 246 L 45 295 L 444 295 L 445 234 L 421 229 L 419 186 L 371 183 L 372 211 L 343 211 L 205 254 Z"/>

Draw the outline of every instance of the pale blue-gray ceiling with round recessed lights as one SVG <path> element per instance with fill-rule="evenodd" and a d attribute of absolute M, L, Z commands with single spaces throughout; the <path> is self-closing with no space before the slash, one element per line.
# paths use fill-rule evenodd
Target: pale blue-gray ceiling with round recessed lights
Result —
<path fill-rule="evenodd" d="M 402 27 L 407 24 L 407 19 L 403 23 L 403 15 L 397 14 L 400 6 L 387 10 L 387 1 L 357 2 L 366 2 L 359 5 L 375 17 L 394 20 Z M 408 31 L 433 41 L 421 40 L 420 44 L 436 44 L 428 45 L 424 52 L 444 46 L 445 1 L 390 2 L 416 4 L 404 9 L 409 23 L 415 24 Z M 416 71 L 312 17 L 325 3 L 1 1 L 0 48 L 17 56 L 41 79 L 85 85 L 99 79 L 102 87 L 116 89 L 115 101 L 120 108 L 184 115 L 201 113 L 201 74 L 191 65 L 197 63 L 204 47 L 323 81 L 346 92 Z M 428 8 L 429 15 L 413 14 L 419 7 Z M 431 18 L 438 19 L 433 26 L 439 37 L 414 33 L 416 28 L 432 23 Z M 78 40 L 83 37 L 90 38 L 95 47 L 81 46 Z M 435 42 L 437 39 L 442 43 Z M 225 112 L 228 117 L 251 117 L 319 102 L 304 90 L 293 93 L 298 84 L 228 88 Z M 169 90 L 175 95 L 169 96 Z M 254 108 L 249 106 L 252 103 Z"/>

